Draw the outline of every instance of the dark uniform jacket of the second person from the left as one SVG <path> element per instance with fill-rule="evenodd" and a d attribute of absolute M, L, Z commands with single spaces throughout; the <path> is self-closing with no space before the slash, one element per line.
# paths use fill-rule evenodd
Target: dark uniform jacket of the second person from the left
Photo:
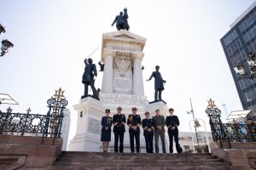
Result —
<path fill-rule="evenodd" d="M 125 133 L 126 118 L 123 114 L 113 115 L 113 132 Z"/>

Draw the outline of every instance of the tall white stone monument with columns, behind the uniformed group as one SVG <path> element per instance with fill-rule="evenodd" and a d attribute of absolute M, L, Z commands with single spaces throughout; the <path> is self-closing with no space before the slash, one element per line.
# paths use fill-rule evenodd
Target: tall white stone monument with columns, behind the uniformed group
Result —
<path fill-rule="evenodd" d="M 127 9 L 125 11 L 127 14 Z M 123 17 L 123 14 L 116 18 L 118 17 Z M 126 23 L 128 24 L 128 22 Z M 104 116 L 105 109 L 109 109 L 110 116 L 113 116 L 116 109 L 121 106 L 122 113 L 125 114 L 126 118 L 131 114 L 132 107 L 137 107 L 137 114 L 142 118 L 145 117 L 144 113 L 146 111 L 154 116 L 155 109 L 160 109 L 162 114 L 168 114 L 166 103 L 157 101 L 149 104 L 144 94 L 142 61 L 146 38 L 127 31 L 126 27 L 121 29 L 117 27 L 117 29 L 119 31 L 102 34 L 102 59 L 99 63 L 101 64 L 103 77 L 102 93 L 99 95 L 100 100 L 87 96 L 80 99 L 78 105 L 73 106 L 74 110 L 78 111 L 78 122 L 76 135 L 71 140 L 68 150 L 102 151 L 100 141 L 101 119 Z M 128 126 L 125 127 L 124 146 L 125 150 L 129 149 L 128 152 L 130 152 Z M 141 148 L 145 150 L 143 133 L 141 133 L 140 140 Z M 110 148 L 111 146 L 113 146 L 113 135 Z"/>

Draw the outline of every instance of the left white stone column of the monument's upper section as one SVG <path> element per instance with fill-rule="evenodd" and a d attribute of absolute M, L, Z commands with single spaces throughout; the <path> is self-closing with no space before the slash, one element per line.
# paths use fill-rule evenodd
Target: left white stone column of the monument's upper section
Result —
<path fill-rule="evenodd" d="M 102 80 L 102 94 L 113 94 L 113 56 L 114 51 L 105 50 L 103 52 L 104 72 Z"/>

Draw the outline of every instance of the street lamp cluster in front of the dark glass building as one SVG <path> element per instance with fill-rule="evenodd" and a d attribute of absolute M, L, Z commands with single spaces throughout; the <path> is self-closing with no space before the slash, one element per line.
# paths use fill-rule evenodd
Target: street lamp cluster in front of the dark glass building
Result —
<path fill-rule="evenodd" d="M 240 74 L 242 78 L 249 78 L 249 79 L 254 79 L 256 78 L 256 54 L 254 54 L 253 52 L 249 52 L 247 54 L 247 63 L 249 65 L 249 71 L 250 71 L 250 75 L 247 77 L 246 75 L 246 65 L 236 65 L 234 67 L 234 70 L 236 71 L 236 73 Z"/>

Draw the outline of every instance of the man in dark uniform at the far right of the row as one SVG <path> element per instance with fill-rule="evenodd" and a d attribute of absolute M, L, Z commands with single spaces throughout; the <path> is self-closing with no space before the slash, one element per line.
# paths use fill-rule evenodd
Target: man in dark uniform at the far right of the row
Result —
<path fill-rule="evenodd" d="M 168 135 L 169 135 L 169 142 L 170 142 L 170 153 L 173 152 L 173 137 L 176 144 L 177 153 L 181 153 L 180 145 L 178 144 L 178 129 L 179 121 L 177 116 L 173 115 L 174 110 L 172 108 L 169 109 L 170 116 L 166 116 L 166 127 L 168 127 Z"/>

